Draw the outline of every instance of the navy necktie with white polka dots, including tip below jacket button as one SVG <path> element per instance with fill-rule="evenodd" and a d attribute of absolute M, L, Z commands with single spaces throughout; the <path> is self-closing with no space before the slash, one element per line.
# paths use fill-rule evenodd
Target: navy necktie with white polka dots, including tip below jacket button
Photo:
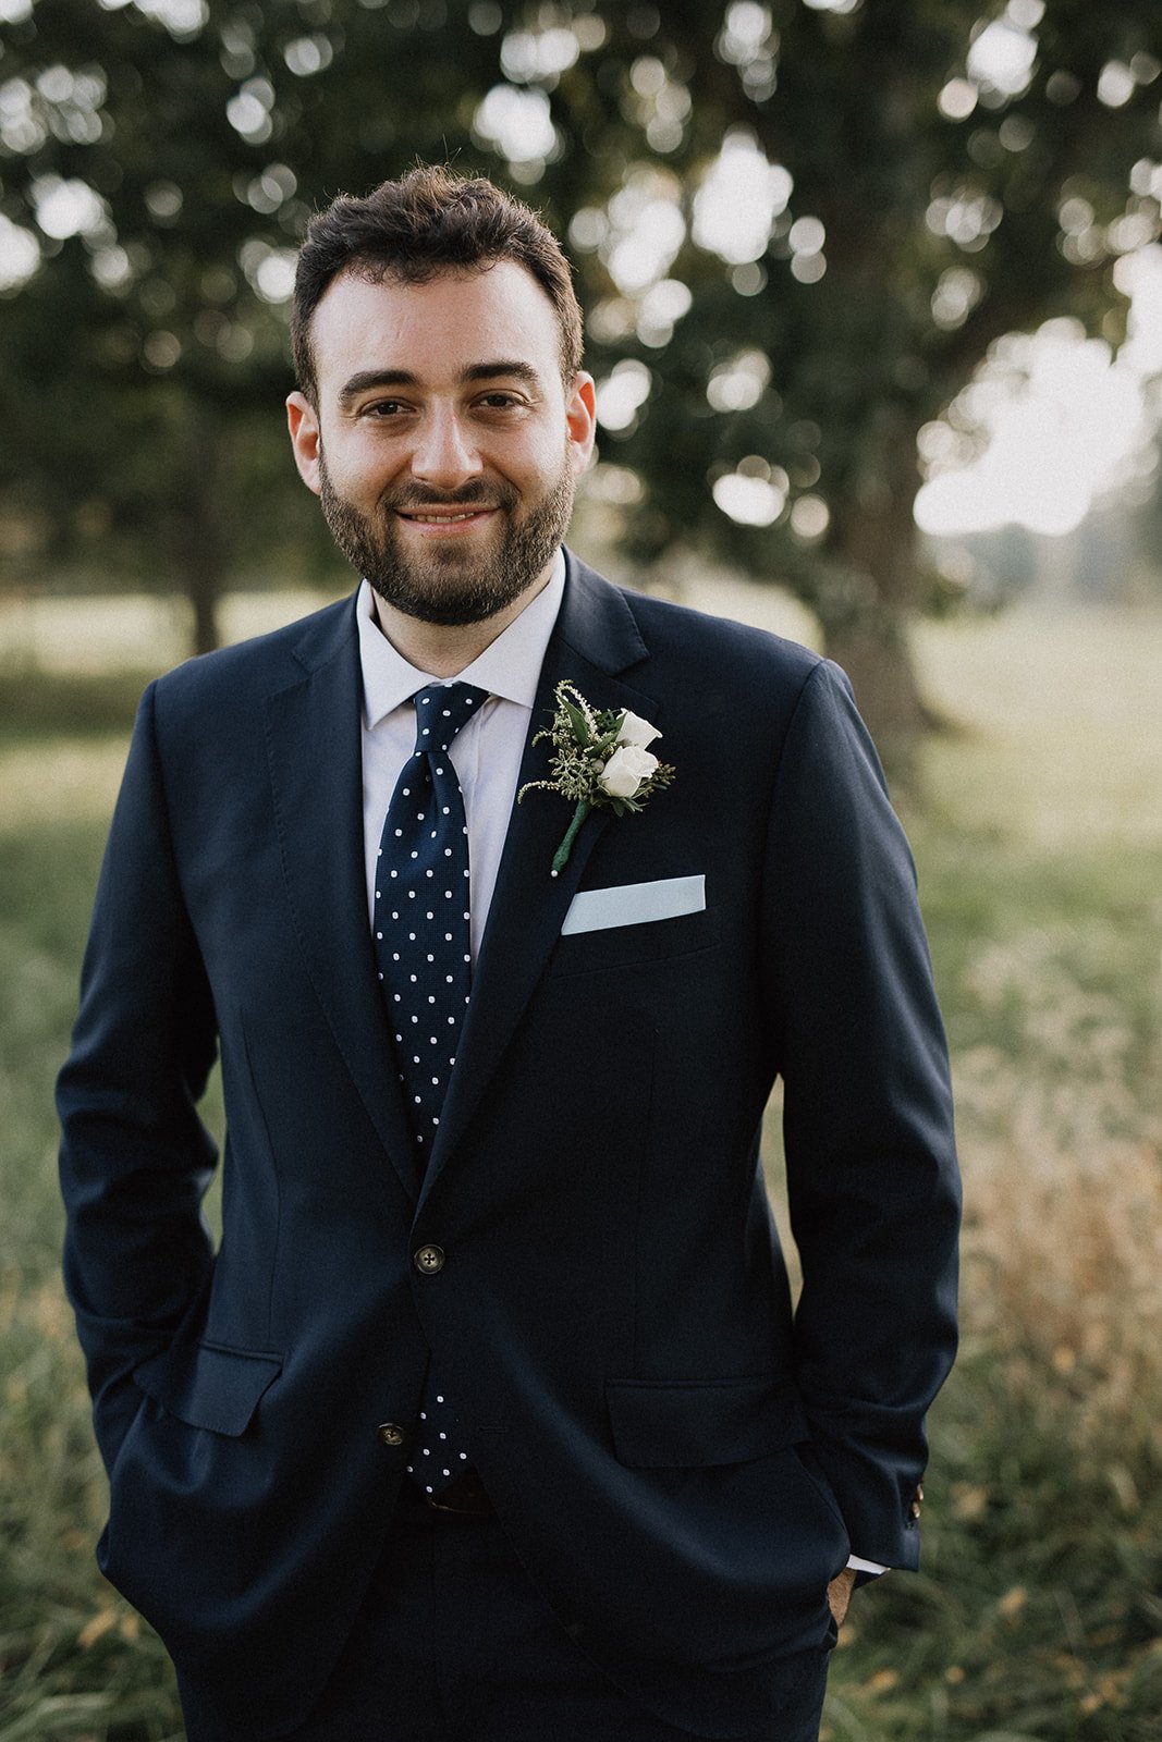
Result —
<path fill-rule="evenodd" d="M 488 692 L 470 683 L 434 683 L 416 693 L 416 747 L 387 807 L 376 859 L 376 969 L 422 1169 L 432 1153 L 472 981 L 469 831 L 448 749 L 486 700 Z M 467 1462 L 455 1411 L 429 1373 L 408 1474 L 439 1495 Z"/>

